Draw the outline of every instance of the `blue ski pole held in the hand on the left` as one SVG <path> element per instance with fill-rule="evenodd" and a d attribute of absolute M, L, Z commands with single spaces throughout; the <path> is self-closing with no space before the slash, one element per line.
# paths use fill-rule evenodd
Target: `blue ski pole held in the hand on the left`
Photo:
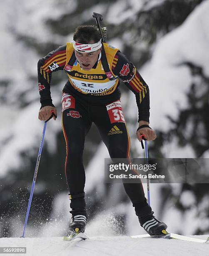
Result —
<path fill-rule="evenodd" d="M 50 118 L 44 122 L 41 144 L 40 144 L 40 148 L 39 148 L 39 151 L 38 151 L 38 157 L 37 157 L 36 166 L 35 166 L 35 173 L 34 173 L 32 186 L 31 186 L 31 191 L 30 191 L 30 198 L 29 198 L 29 202 L 28 202 L 28 205 L 27 205 L 27 213 L 26 213 L 26 217 L 25 217 L 25 224 L 24 224 L 24 227 L 23 227 L 22 236 L 20 236 L 20 237 L 23 237 L 23 238 L 25 237 L 25 229 L 26 229 L 26 225 L 27 225 L 27 219 L 28 219 L 28 216 L 29 216 L 29 212 L 30 212 L 30 205 L 31 205 L 31 201 L 32 201 L 32 195 L 33 195 L 33 191 L 34 191 L 34 188 L 35 188 L 35 181 L 36 181 L 36 177 L 37 177 L 38 166 L 39 166 L 39 162 L 40 162 L 40 157 L 41 157 L 41 151 L 42 151 L 42 147 L 43 147 L 43 141 L 44 141 L 46 126 L 47 126 L 47 122 L 53 116 L 55 116 L 55 118 L 57 118 L 57 115 L 55 115 L 55 113 L 53 111 L 51 111 Z"/>

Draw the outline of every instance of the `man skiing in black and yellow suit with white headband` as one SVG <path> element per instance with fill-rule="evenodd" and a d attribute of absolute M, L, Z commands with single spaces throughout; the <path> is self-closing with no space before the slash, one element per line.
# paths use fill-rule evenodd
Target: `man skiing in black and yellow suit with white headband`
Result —
<path fill-rule="evenodd" d="M 120 102 L 119 79 L 136 96 L 139 110 L 136 135 L 139 141 L 142 134 L 148 141 L 156 138 L 149 127 L 149 87 L 119 49 L 102 43 L 96 26 L 79 26 L 72 43 L 58 47 L 38 61 L 40 120 L 50 118 L 52 111 L 57 115 L 52 104 L 50 82 L 52 72 L 58 70 L 65 70 L 68 76 L 62 90 L 62 129 L 67 148 L 65 174 L 70 191 L 70 230 L 84 232 L 87 221 L 82 163 L 85 135 L 94 122 L 110 157 L 129 159 L 129 135 Z M 153 216 L 142 184 L 123 185 L 140 225 L 150 235 L 164 235 L 167 225 Z"/>

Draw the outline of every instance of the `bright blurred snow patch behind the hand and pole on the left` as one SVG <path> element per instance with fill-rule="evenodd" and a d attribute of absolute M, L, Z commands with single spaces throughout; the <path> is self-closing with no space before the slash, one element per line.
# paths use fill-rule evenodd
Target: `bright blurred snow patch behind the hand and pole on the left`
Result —
<path fill-rule="evenodd" d="M 4 134 L 8 134 L 8 138 L 4 150 L 0 151 L 0 165 L 2 166 L 0 177 L 4 177 L 7 174 L 7 169 L 16 169 L 17 166 L 24 164 L 21 161 L 20 154 L 25 148 L 31 149 L 28 154 L 35 154 L 34 150 L 37 146 L 37 141 L 41 141 L 44 124 L 44 122 L 40 122 L 37 119 L 39 108 L 39 103 L 35 102 L 22 110 L 18 115 L 15 115 L 16 110 L 14 109 L 12 125 L 4 125 L 2 127 L 4 128 Z M 47 142 L 51 153 L 56 149 L 55 133 L 57 129 L 60 130 L 60 125 L 61 120 L 58 118 L 56 121 L 52 120 L 50 125 L 47 125 L 46 128 L 48 132 L 46 133 L 44 141 L 45 143 Z M 4 138 L 0 136 L 0 140 L 1 139 L 3 140 Z M 12 156 L 12 161 L 10 160 L 10 156 Z"/>

